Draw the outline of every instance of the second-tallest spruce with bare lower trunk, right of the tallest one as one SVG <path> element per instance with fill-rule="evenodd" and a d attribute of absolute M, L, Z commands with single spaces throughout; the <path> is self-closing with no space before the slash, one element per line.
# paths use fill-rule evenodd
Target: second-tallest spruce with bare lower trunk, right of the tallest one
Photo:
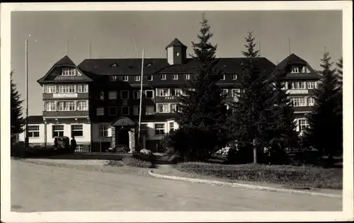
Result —
<path fill-rule="evenodd" d="M 240 79 L 241 93 L 238 101 L 232 103 L 232 115 L 229 116 L 230 137 L 236 139 L 244 154 L 252 154 L 253 139 L 258 139 L 258 149 L 268 147 L 271 139 L 270 125 L 273 123 L 273 85 L 268 76 L 258 67 L 258 51 L 250 32 L 246 38 L 246 57 L 243 74 Z M 240 151 L 241 151 L 240 150 Z M 247 159 L 246 157 L 244 157 Z M 249 160 L 243 160 L 246 162 Z M 254 161 L 254 160 L 253 160 Z"/>

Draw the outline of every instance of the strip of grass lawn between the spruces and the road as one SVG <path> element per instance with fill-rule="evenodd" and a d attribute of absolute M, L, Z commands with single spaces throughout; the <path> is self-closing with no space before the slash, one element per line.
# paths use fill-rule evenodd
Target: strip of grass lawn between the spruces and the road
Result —
<path fill-rule="evenodd" d="M 314 166 L 278 166 L 261 164 L 206 164 L 180 163 L 179 171 L 202 176 L 224 178 L 228 181 L 276 183 L 287 188 L 343 188 L 342 168 L 317 168 Z"/>

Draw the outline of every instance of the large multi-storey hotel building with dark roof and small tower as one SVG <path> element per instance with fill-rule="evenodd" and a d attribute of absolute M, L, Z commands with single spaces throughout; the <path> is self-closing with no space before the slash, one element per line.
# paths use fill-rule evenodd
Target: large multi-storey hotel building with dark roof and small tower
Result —
<path fill-rule="evenodd" d="M 142 80 L 142 148 L 155 150 L 164 135 L 178 128 L 173 120 L 177 96 L 195 75 L 196 62 L 187 58 L 178 39 L 166 46 L 166 58 L 144 59 Z M 219 58 L 224 71 L 219 86 L 235 100 L 245 58 Z M 308 126 L 304 115 L 314 105 L 313 89 L 320 75 L 309 64 L 290 55 L 278 65 L 257 59 L 264 72 L 286 73 L 285 91 L 295 106 L 297 131 Z M 104 151 L 137 142 L 142 59 L 84 59 L 79 65 L 65 56 L 38 80 L 42 86 L 42 115 L 28 117 L 30 146 L 50 146 L 59 136 L 75 136 L 77 151 Z M 24 140 L 24 134 L 20 135 Z"/>

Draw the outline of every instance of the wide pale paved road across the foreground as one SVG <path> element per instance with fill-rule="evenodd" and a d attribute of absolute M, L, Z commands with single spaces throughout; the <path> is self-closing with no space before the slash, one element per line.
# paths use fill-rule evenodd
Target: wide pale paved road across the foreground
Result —
<path fill-rule="evenodd" d="M 11 160 L 11 210 L 340 211 L 340 198 L 83 171 Z"/>

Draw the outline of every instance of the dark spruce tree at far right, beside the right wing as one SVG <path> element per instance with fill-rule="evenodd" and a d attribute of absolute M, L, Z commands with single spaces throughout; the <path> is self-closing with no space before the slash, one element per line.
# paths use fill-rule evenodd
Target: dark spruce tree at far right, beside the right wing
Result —
<path fill-rule="evenodd" d="M 325 52 L 321 59 L 322 77 L 319 88 L 315 89 L 314 110 L 309 115 L 309 128 L 305 132 L 307 142 L 328 156 L 332 164 L 333 156 L 343 151 L 342 118 L 339 101 L 341 100 L 338 79 L 332 67 L 331 57 Z"/>

